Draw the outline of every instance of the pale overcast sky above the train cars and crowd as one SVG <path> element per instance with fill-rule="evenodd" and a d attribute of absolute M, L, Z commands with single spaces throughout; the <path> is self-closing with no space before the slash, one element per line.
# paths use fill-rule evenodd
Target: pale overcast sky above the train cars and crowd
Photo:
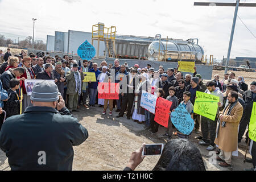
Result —
<path fill-rule="evenodd" d="M 93 24 L 102 22 L 105 27 L 116 26 L 121 35 L 199 38 L 205 55 L 222 60 L 228 52 L 235 7 L 193 6 L 193 2 L 236 0 L 0 0 L 0 34 L 17 42 L 18 36 L 32 36 L 32 18 L 37 18 L 35 39 L 46 42 L 55 31 L 91 32 Z M 256 7 L 240 7 L 238 15 L 256 35 Z M 231 52 L 232 58 L 236 56 L 256 57 L 256 39 L 238 18 Z"/>

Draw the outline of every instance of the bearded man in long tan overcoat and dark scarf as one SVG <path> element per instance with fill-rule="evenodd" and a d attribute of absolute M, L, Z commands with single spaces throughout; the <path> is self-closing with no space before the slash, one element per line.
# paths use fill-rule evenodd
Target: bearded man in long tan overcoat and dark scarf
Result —
<path fill-rule="evenodd" d="M 221 167 L 230 167 L 232 152 L 237 150 L 238 126 L 242 118 L 243 107 L 238 102 L 238 93 L 231 91 L 228 94 L 229 104 L 218 114 L 218 126 L 214 143 L 221 152 L 217 156 Z"/>

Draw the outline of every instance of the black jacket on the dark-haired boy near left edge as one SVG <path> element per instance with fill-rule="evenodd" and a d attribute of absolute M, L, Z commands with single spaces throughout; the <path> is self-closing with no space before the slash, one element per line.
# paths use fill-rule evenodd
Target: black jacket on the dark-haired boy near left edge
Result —
<path fill-rule="evenodd" d="M 7 90 L 9 99 L 7 100 L 4 110 L 6 111 L 6 118 L 20 113 L 19 96 L 13 90 Z"/>

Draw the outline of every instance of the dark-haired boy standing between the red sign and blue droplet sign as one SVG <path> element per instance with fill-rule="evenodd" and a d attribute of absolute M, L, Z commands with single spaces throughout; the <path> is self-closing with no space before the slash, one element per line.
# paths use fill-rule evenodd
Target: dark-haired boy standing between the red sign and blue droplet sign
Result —
<path fill-rule="evenodd" d="M 176 89 L 175 89 L 174 86 L 170 86 L 170 88 L 168 89 L 168 92 L 169 92 L 170 96 L 168 96 L 166 98 L 166 100 L 172 102 L 172 105 L 170 107 L 170 114 L 171 114 L 171 111 L 176 109 L 176 107 L 179 105 L 179 100 L 175 96 Z M 172 138 L 172 122 L 171 122 L 171 117 L 169 117 L 168 129 L 167 129 L 166 133 L 163 134 L 161 137 L 168 137 L 169 139 Z"/>

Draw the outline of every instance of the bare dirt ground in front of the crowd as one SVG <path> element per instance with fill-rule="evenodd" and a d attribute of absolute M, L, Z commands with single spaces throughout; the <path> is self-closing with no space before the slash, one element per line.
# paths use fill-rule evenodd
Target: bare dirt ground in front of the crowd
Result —
<path fill-rule="evenodd" d="M 119 171 L 126 167 L 131 152 L 141 147 L 145 143 L 166 143 L 160 138 L 164 133 L 164 127 L 159 127 L 158 133 L 151 134 L 143 129 L 144 125 L 139 125 L 128 120 L 126 117 L 116 118 L 118 113 L 113 112 L 110 117 L 109 110 L 106 115 L 101 115 L 102 107 L 92 107 L 80 109 L 79 113 L 74 114 L 79 122 L 88 130 L 89 137 L 80 146 L 73 147 L 75 156 L 73 159 L 73 170 L 75 171 Z M 209 151 L 205 146 L 197 144 L 195 137 L 199 134 L 192 133 L 189 140 L 192 140 L 201 151 L 205 167 L 209 171 L 229 171 L 229 168 L 222 168 L 217 164 L 211 164 Z M 241 171 L 244 168 L 251 168 L 252 164 L 243 163 L 246 144 L 243 138 L 238 145 L 239 156 L 232 158 L 233 170 Z M 247 158 L 251 155 L 247 153 Z M 136 170 L 150 171 L 158 162 L 159 156 L 146 156 Z M 0 170 L 10 170 L 6 155 L 0 150 Z"/>

